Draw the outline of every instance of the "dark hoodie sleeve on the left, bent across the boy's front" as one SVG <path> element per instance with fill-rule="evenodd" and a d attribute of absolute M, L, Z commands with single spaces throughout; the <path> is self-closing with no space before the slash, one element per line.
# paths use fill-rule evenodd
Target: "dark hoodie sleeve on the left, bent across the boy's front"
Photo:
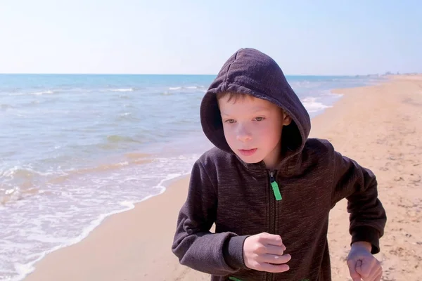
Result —
<path fill-rule="evenodd" d="M 204 166 L 193 165 L 188 197 L 177 219 L 172 245 L 182 265 L 212 275 L 227 275 L 245 268 L 243 242 L 247 236 L 211 233 L 217 211 L 217 189 Z"/>

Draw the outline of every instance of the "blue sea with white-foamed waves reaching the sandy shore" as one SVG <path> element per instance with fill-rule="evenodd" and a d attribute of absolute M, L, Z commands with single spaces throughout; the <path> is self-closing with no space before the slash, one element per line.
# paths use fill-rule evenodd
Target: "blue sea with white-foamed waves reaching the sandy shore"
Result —
<path fill-rule="evenodd" d="M 199 105 L 215 75 L 0 74 L 0 280 L 18 281 L 107 216 L 165 192 L 212 147 Z M 288 76 L 315 117 L 331 89 L 380 77 Z"/>

